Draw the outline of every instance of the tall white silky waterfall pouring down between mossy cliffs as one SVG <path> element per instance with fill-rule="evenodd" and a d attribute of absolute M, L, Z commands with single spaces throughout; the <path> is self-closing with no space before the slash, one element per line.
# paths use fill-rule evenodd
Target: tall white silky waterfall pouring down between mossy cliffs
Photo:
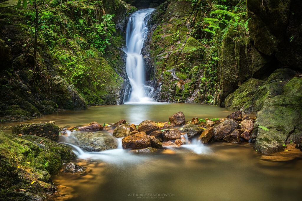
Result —
<path fill-rule="evenodd" d="M 142 49 L 148 34 L 147 22 L 154 8 L 142 9 L 133 13 L 127 24 L 126 70 L 132 87 L 128 103 L 153 102 L 150 97 L 153 88 L 145 85 L 145 66 Z"/>

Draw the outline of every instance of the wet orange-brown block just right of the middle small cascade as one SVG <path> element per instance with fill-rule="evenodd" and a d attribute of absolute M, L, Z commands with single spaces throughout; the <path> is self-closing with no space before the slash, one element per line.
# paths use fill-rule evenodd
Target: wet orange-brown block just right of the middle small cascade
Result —
<path fill-rule="evenodd" d="M 151 146 L 150 140 L 145 132 L 139 132 L 122 139 L 123 149 L 140 149 Z"/>

